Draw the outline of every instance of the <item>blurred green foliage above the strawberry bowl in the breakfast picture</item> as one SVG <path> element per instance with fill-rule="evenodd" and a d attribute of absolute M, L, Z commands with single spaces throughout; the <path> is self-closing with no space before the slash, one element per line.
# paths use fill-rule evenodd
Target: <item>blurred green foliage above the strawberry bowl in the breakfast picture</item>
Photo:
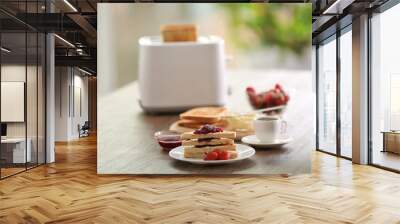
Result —
<path fill-rule="evenodd" d="M 311 44 L 311 4 L 230 3 L 220 7 L 228 15 L 230 36 L 240 48 L 276 46 L 302 55 Z M 238 35 L 243 32 L 252 33 L 252 41 Z"/>

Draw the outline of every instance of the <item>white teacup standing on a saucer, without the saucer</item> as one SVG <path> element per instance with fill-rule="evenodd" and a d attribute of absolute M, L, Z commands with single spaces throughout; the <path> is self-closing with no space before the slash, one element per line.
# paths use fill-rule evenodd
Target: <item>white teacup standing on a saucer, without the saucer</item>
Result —
<path fill-rule="evenodd" d="M 278 117 L 259 117 L 253 121 L 254 131 L 258 140 L 275 142 L 286 132 L 286 121 Z"/>

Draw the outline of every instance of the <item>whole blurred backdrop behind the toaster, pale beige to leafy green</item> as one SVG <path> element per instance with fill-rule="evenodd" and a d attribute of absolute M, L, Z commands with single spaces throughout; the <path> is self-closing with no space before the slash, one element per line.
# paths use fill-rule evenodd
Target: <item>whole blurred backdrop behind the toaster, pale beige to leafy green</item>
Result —
<path fill-rule="evenodd" d="M 110 49 L 107 60 L 119 71 L 116 86 L 137 79 L 139 38 L 159 36 L 165 24 L 195 24 L 199 35 L 223 38 L 230 71 L 311 71 L 311 3 L 106 5 L 98 20 Z"/>

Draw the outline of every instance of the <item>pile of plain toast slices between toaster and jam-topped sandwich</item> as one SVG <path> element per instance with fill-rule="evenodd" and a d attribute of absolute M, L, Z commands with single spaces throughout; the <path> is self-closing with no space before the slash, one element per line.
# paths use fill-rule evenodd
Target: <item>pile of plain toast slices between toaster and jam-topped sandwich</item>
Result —
<path fill-rule="evenodd" d="M 180 114 L 178 126 L 198 129 L 205 124 L 225 127 L 222 117 L 227 113 L 224 107 L 197 107 Z"/>

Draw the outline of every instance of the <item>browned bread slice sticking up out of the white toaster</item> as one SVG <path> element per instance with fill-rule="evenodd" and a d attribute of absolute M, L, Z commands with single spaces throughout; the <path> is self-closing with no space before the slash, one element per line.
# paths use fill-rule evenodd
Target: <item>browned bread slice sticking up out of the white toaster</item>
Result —
<path fill-rule="evenodd" d="M 193 24 L 164 25 L 161 34 L 164 42 L 197 41 L 197 29 Z"/>

